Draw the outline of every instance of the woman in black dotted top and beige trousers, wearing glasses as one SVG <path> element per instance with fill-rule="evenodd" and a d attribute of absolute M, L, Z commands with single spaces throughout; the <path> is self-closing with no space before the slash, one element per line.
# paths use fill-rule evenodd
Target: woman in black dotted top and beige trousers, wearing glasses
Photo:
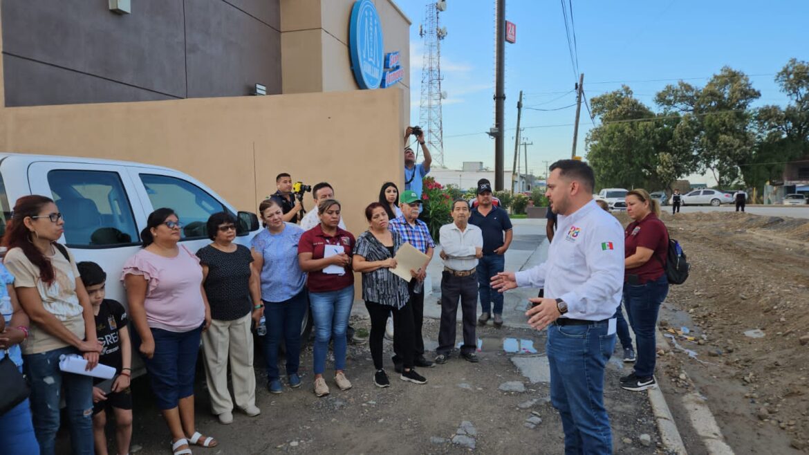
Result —
<path fill-rule="evenodd" d="M 227 390 L 227 363 L 230 358 L 233 395 L 250 417 L 259 415 L 256 407 L 256 373 L 253 372 L 252 321 L 258 322 L 261 305 L 259 278 L 253 270 L 250 250 L 236 245 L 236 219 L 227 212 L 208 219 L 208 236 L 214 240 L 197 251 L 202 265 L 202 286 L 210 305 L 210 328 L 202 334 L 205 381 L 210 406 L 219 422 L 233 422 L 233 401 Z"/>

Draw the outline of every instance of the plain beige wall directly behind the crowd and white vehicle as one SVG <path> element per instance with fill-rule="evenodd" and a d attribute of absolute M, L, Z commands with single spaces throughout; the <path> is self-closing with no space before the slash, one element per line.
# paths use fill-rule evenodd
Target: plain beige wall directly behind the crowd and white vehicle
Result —
<path fill-rule="evenodd" d="M 2 93 L 2 90 L 0 90 Z M 328 181 L 351 232 L 384 181 L 401 185 L 402 91 L 0 108 L 0 150 L 176 168 L 255 212 L 290 172 Z M 304 206 L 311 209 L 310 194 Z"/>

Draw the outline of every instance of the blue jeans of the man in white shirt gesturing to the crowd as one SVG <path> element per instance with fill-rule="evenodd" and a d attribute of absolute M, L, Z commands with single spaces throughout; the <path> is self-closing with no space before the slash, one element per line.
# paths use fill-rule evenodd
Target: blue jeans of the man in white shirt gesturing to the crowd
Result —
<path fill-rule="evenodd" d="M 604 367 L 616 336 L 607 331 L 608 321 L 548 327 L 551 403 L 561 416 L 565 453 L 612 453 Z"/>

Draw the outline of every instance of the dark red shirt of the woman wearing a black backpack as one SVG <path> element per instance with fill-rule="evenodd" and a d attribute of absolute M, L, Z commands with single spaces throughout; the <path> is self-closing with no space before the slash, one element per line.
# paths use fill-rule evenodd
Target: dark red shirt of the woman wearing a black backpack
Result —
<path fill-rule="evenodd" d="M 627 275 L 637 275 L 640 283 L 659 279 L 665 273 L 663 264 L 668 256 L 668 232 L 666 225 L 654 213 L 646 215 L 640 221 L 629 223 L 624 231 L 624 257 L 632 256 L 639 246 L 654 250 L 654 253 L 646 264 L 626 269 L 624 280 L 626 281 Z"/>

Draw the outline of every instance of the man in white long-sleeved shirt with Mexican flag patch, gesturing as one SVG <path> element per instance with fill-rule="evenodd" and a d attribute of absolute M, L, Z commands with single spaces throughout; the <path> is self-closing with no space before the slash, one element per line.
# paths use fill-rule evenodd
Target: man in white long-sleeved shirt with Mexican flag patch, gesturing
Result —
<path fill-rule="evenodd" d="M 561 159 L 550 167 L 545 195 L 558 215 L 548 260 L 530 270 L 503 272 L 492 286 L 544 287 L 529 299 L 536 330 L 548 327 L 551 402 L 561 415 L 565 453 L 612 453 L 604 408 L 604 367 L 615 349 L 616 320 L 624 284 L 624 231 L 592 197 L 593 170 Z"/>

